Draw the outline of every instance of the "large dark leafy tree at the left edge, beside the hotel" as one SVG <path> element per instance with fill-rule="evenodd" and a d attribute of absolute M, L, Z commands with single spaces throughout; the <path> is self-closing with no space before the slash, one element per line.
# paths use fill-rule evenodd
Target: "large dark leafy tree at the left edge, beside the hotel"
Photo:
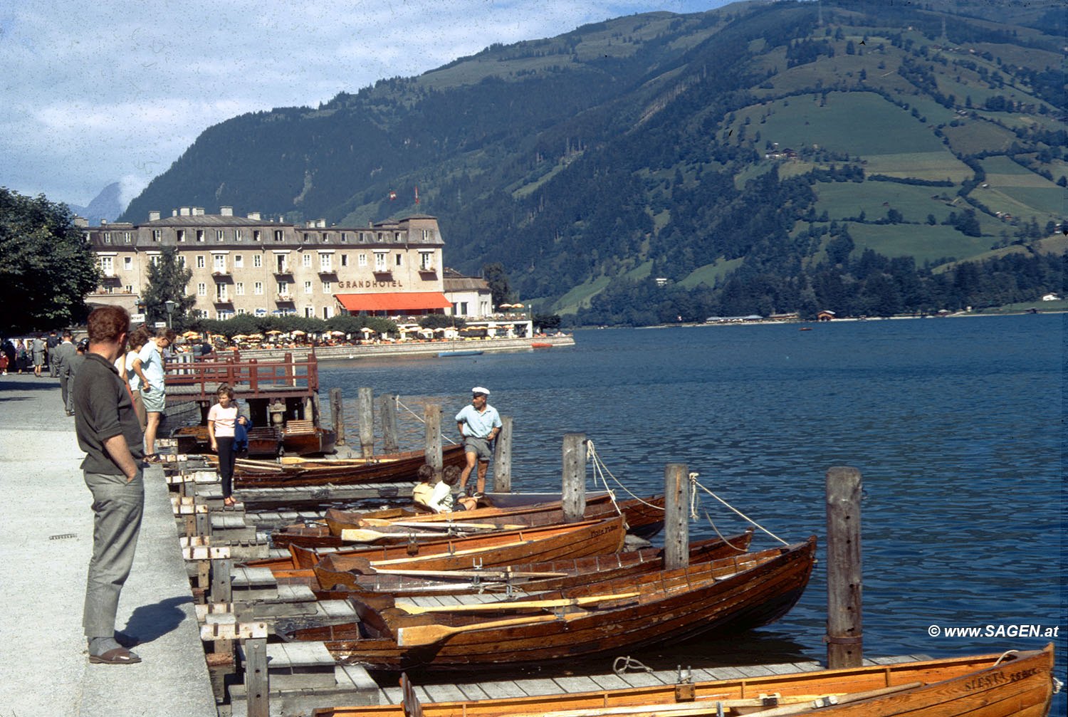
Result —
<path fill-rule="evenodd" d="M 100 283 L 93 252 L 64 204 L 0 187 L 0 331 L 69 326 Z"/>

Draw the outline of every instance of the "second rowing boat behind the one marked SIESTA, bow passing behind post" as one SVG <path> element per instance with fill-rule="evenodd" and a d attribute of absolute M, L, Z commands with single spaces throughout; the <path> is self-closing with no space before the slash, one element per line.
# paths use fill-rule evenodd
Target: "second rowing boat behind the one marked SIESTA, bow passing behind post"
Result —
<path fill-rule="evenodd" d="M 729 535 L 726 539 L 714 537 L 693 543 L 690 545 L 690 564 L 742 555 L 749 550 L 752 539 L 753 529 L 750 528 L 743 533 Z M 529 594 L 659 570 L 663 570 L 662 548 L 643 548 L 608 556 L 508 565 L 504 568 L 455 572 L 376 571 L 373 575 L 339 571 L 333 558 L 327 555 L 313 568 L 319 588 L 331 591 L 332 599 L 344 597 L 371 599 L 382 595 L 411 597 L 489 594 L 511 590 Z"/>

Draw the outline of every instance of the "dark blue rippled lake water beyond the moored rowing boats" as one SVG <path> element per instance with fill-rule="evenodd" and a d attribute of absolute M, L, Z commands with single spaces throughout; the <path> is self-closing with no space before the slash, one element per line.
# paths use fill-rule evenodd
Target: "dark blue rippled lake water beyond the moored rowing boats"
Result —
<path fill-rule="evenodd" d="M 685 463 L 771 532 L 789 542 L 816 534 L 821 548 L 824 472 L 854 466 L 865 489 L 864 653 L 948 656 L 1050 641 L 932 637 L 931 625 L 1058 627 L 1064 680 L 1064 317 L 811 326 L 585 330 L 569 348 L 330 362 L 320 365 L 323 405 L 326 388 L 343 390 L 358 443 L 358 387 L 397 393 L 420 416 L 424 403 L 440 403 L 455 438 L 453 416 L 483 385 L 514 418 L 516 490 L 559 490 L 562 436 L 584 433 L 634 493 L 662 492 L 664 465 Z M 421 424 L 411 414 L 399 420 L 403 441 L 420 448 Z M 743 529 L 707 496 L 702 506 L 720 531 Z M 704 517 L 690 533 L 714 534 Z M 657 669 L 826 659 L 822 549 L 820 561 L 778 623 L 728 643 L 633 656 Z M 1056 700 L 1052 714 L 1065 714 L 1065 695 Z"/>

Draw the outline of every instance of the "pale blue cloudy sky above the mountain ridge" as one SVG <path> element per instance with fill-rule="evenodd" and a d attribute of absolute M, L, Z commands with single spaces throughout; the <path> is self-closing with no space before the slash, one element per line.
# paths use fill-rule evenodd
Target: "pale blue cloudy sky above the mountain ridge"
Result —
<path fill-rule="evenodd" d="M 136 197 L 207 127 L 317 106 L 492 43 L 726 0 L 23 0 L 0 7 L 0 186 Z M 175 200 L 178 201 L 177 199 Z M 124 204 L 125 205 L 125 204 Z"/>

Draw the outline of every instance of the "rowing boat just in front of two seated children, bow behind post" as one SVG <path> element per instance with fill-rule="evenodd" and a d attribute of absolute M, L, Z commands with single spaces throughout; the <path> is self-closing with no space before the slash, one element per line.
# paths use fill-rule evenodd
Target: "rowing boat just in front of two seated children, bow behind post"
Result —
<path fill-rule="evenodd" d="M 626 518 L 627 532 L 639 537 L 651 537 L 663 527 L 664 497 L 649 496 L 642 499 L 621 501 L 618 511 Z M 597 520 L 618 514 L 616 506 L 609 501 L 608 496 L 586 503 L 583 518 Z M 299 545 L 302 547 L 340 547 L 352 542 L 349 533 L 361 529 L 373 529 L 381 533 L 378 543 L 404 543 L 409 535 L 422 530 L 433 530 L 435 526 L 443 529 L 447 524 L 475 524 L 491 529 L 494 526 L 551 526 L 564 523 L 564 509 L 559 501 L 541 505 L 529 505 L 520 509 L 476 508 L 473 511 L 455 513 L 409 513 L 393 517 L 381 517 L 366 513 L 345 512 L 331 509 L 324 518 L 326 526 L 286 526 L 271 533 L 271 542 L 276 547 Z M 403 525 L 398 526 L 397 523 Z M 426 528 L 422 528 L 426 526 Z M 456 534 L 464 532 L 460 529 Z M 469 532 L 481 532 L 472 529 Z"/>

